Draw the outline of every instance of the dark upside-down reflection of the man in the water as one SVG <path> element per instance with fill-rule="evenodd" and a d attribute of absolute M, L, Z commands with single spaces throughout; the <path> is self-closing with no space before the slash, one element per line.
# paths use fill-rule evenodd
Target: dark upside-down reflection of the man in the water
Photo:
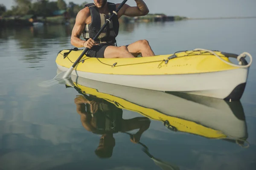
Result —
<path fill-rule="evenodd" d="M 102 134 L 95 153 L 100 158 L 112 156 L 115 139 L 113 133 L 138 129 L 131 135 L 131 142 L 140 142 L 142 133 L 148 129 L 150 119 L 136 117 L 122 119 L 122 109 L 96 96 L 78 95 L 75 99 L 76 111 L 81 116 L 84 128 L 95 134 Z"/>

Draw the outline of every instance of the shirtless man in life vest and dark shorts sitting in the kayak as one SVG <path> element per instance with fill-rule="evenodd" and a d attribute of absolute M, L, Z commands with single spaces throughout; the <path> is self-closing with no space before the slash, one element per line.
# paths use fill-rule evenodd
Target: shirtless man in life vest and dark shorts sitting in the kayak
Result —
<path fill-rule="evenodd" d="M 99 58 L 132 58 L 141 54 L 142 57 L 154 56 L 147 40 L 139 40 L 126 46 L 115 46 L 116 36 L 119 31 L 118 19 L 122 15 L 129 17 L 143 16 L 148 14 L 148 7 L 143 0 L 135 0 L 137 6 L 124 4 L 111 20 L 111 23 L 99 35 L 96 41 L 93 37 L 113 14 L 119 4 L 108 3 L 107 0 L 93 0 L 94 3 L 86 4 L 76 16 L 76 23 L 71 34 L 71 44 L 77 48 L 87 47 L 88 57 Z M 84 40 L 80 39 L 80 36 Z"/>

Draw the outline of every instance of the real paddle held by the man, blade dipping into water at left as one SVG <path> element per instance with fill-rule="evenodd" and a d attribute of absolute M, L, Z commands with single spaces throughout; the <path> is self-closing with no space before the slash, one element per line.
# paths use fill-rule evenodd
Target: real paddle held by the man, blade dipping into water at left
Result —
<path fill-rule="evenodd" d="M 96 34 L 95 37 L 93 37 L 93 40 L 96 40 L 99 37 L 99 34 L 102 33 L 102 31 L 105 29 L 105 27 L 111 22 L 112 18 L 117 15 L 117 12 L 122 8 L 122 6 L 124 6 L 124 4 L 126 3 L 127 0 L 124 0 L 117 8 L 116 11 L 113 11 L 113 14 L 111 15 L 111 17 L 106 20 L 105 24 L 102 26 L 102 28 L 99 30 L 99 32 Z M 48 80 L 45 81 L 43 83 L 41 83 L 39 86 L 42 87 L 48 87 L 51 84 L 58 84 L 58 82 L 65 82 L 67 81 L 67 78 L 70 77 L 70 74 L 72 73 L 72 71 L 74 70 L 74 68 L 76 67 L 76 65 L 79 63 L 79 61 L 81 60 L 81 58 L 86 54 L 86 52 L 89 50 L 90 48 L 85 48 L 84 51 L 82 52 L 82 54 L 78 57 L 78 59 L 76 60 L 76 62 L 74 62 L 74 64 L 67 70 L 67 71 L 63 71 L 59 74 L 57 74 L 54 78 L 53 81 L 52 80 Z"/>

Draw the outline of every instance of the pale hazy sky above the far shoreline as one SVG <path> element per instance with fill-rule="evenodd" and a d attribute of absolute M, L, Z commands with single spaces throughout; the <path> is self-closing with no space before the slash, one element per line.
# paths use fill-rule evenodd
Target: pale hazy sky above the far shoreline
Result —
<path fill-rule="evenodd" d="M 54 1 L 54 0 L 53 0 Z M 93 0 L 65 0 L 82 4 Z M 108 0 L 121 3 L 122 0 Z M 256 0 L 144 0 L 150 13 L 164 13 L 166 15 L 180 15 L 184 17 L 250 17 L 256 16 Z M 0 0 L 7 9 L 13 6 L 14 0 Z M 135 6 L 134 0 L 128 0 L 128 5 Z"/>

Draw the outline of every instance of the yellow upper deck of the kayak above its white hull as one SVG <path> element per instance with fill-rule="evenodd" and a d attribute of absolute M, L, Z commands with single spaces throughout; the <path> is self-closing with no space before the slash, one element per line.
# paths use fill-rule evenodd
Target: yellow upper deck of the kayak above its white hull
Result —
<path fill-rule="evenodd" d="M 70 51 L 67 57 L 63 50 L 58 53 L 56 63 L 70 68 L 83 50 Z M 215 51 L 222 59 L 230 62 L 228 57 Z M 170 57 L 170 58 L 169 58 Z M 169 59 L 168 59 L 169 58 Z M 84 56 L 76 66 L 76 71 L 100 74 L 119 75 L 166 75 L 166 74 L 196 74 L 236 69 L 206 51 L 183 51 L 169 55 L 136 58 L 94 58 Z"/>

